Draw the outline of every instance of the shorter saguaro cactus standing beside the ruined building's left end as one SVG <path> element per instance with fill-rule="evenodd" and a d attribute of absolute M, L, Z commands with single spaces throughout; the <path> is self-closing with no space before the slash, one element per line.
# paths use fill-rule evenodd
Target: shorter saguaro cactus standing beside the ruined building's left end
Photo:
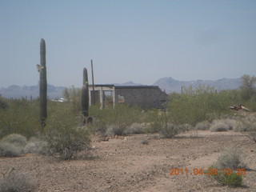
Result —
<path fill-rule="evenodd" d="M 84 123 L 89 115 L 89 85 L 87 69 L 83 68 L 83 81 L 82 81 L 82 114 L 84 116 Z"/>

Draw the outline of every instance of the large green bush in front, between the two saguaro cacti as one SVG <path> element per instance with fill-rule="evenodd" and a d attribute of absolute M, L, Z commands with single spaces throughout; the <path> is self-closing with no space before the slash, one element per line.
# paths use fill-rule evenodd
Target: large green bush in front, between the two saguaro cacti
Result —
<path fill-rule="evenodd" d="M 45 140 L 49 153 L 56 158 L 68 160 L 75 153 L 90 145 L 90 134 L 81 126 L 82 118 L 66 106 L 58 108 L 46 122 Z"/>

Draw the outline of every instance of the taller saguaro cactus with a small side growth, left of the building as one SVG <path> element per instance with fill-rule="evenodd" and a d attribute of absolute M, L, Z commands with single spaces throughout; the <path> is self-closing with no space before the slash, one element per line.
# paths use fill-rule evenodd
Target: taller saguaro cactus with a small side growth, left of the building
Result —
<path fill-rule="evenodd" d="M 47 118 L 47 80 L 46 80 L 46 42 L 42 38 L 40 42 L 40 66 L 38 65 L 40 73 L 40 119 L 42 127 L 46 125 Z"/>

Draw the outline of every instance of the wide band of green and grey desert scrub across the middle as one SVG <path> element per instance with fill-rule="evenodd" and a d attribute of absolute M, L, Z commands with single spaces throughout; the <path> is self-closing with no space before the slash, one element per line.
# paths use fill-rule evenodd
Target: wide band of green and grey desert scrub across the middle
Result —
<path fill-rule="evenodd" d="M 70 159 L 90 146 L 90 134 L 158 133 L 163 138 L 172 138 L 193 129 L 243 131 L 256 142 L 255 115 L 234 116 L 229 109 L 235 103 L 243 103 L 250 110 L 256 110 L 254 82 L 254 77 L 245 75 L 240 90 L 218 92 L 205 86 L 185 88 L 182 94 L 170 94 L 166 110 L 144 111 L 124 104 L 102 110 L 97 105 L 90 106 L 94 123 L 89 126 L 82 126 L 81 90 L 74 86 L 63 93 L 68 102 L 48 101 L 46 127 L 40 126 L 38 99 L 0 98 L 0 154 L 19 156 L 37 152 Z M 26 144 L 17 146 L 10 140 L 7 142 L 10 134 Z"/>

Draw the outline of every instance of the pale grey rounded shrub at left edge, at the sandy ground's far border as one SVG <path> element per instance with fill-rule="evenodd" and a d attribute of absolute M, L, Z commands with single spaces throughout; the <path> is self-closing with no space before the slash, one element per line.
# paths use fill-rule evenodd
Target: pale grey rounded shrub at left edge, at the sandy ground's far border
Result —
<path fill-rule="evenodd" d="M 26 138 L 20 134 L 10 134 L 0 140 L 1 157 L 18 157 L 24 154 Z"/>

